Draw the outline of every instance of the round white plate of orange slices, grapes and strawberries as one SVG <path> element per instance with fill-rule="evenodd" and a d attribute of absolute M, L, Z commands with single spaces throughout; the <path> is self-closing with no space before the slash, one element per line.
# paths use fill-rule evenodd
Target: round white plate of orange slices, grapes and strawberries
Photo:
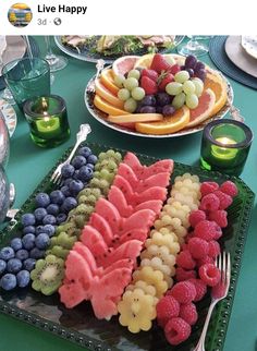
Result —
<path fill-rule="evenodd" d="M 90 114 L 115 131 L 175 137 L 201 131 L 230 110 L 233 90 L 194 56 L 125 56 L 94 76 L 85 89 Z"/>

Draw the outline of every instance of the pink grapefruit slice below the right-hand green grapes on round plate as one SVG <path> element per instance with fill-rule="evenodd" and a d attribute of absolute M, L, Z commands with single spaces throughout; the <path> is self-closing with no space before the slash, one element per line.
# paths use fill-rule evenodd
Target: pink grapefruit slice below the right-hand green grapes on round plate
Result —
<path fill-rule="evenodd" d="M 211 117 L 216 105 L 216 95 L 211 89 L 206 89 L 199 97 L 199 104 L 191 110 L 191 120 L 186 128 L 195 126 Z"/>

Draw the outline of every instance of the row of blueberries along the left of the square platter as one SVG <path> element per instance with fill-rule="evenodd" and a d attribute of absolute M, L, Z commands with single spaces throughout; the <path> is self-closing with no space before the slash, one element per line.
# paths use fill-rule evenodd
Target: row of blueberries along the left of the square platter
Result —
<path fill-rule="evenodd" d="M 76 196 L 93 178 L 96 162 L 97 156 L 90 148 L 81 147 L 72 162 L 61 170 L 61 189 L 36 195 L 34 213 L 21 218 L 22 238 L 12 239 L 10 245 L 0 251 L 0 287 L 3 290 L 29 285 L 29 273 L 36 261 L 45 257 L 56 226 L 64 222 L 69 211 L 77 206 Z"/>

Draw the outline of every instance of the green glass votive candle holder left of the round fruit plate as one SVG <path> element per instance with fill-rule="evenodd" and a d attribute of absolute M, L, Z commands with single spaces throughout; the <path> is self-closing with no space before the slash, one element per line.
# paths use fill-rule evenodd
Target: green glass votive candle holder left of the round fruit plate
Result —
<path fill-rule="evenodd" d="M 33 142 L 41 147 L 56 147 L 70 136 L 66 106 L 58 95 L 38 96 L 25 101 L 24 114 Z"/>

